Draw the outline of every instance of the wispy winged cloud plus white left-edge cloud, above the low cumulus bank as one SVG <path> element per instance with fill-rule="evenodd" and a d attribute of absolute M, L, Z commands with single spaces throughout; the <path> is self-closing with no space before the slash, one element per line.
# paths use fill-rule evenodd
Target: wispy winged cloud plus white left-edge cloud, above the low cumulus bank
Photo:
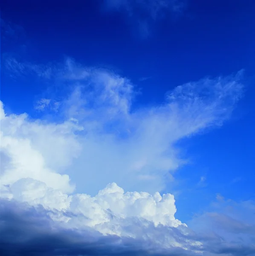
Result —
<path fill-rule="evenodd" d="M 17 62 L 18 67 L 23 65 Z M 32 66 L 26 64 L 25 72 L 33 73 Z M 93 195 L 112 182 L 128 191 L 161 191 L 185 163 L 178 155 L 177 141 L 222 125 L 243 93 L 239 72 L 180 85 L 166 94 L 161 105 L 135 109 L 135 85 L 109 70 L 84 67 L 69 58 L 64 64 L 36 67 L 42 73 L 54 71 L 42 80 L 51 87 L 38 108 L 49 115 L 52 111 L 56 118 L 53 122 L 33 120 L 27 114 L 3 118 L 5 154 L 20 156 L 13 160 L 19 166 L 21 161 L 28 165 L 22 172 L 20 167 L 16 171 L 9 167 L 17 175 L 4 178 L 14 181 L 14 176 L 21 178 L 31 170 L 33 176 L 22 177 L 40 176 L 46 182 L 47 175 L 41 172 L 53 172 L 55 177 L 65 172 L 79 192 L 86 187 Z M 31 155 L 40 164 L 32 167 Z M 38 170 L 36 177 L 32 169 Z"/>

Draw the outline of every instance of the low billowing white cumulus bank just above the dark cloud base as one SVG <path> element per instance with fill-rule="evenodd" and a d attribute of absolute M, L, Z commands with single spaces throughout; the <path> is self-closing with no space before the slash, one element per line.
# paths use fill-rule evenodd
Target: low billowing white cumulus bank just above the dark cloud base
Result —
<path fill-rule="evenodd" d="M 66 195 L 33 179 L 20 179 L 9 187 L 12 198 L 50 210 L 48 216 L 66 229 L 92 228 L 102 235 L 117 235 L 150 242 L 162 249 L 201 245 L 190 237 L 185 224 L 174 218 L 174 196 L 126 192 L 112 183 L 91 197 Z M 164 233 L 164 236 L 160 234 Z M 177 234 L 175 234 L 177 233 Z M 180 233 L 180 236 L 178 236 Z M 182 237 L 183 236 L 183 237 Z"/>

